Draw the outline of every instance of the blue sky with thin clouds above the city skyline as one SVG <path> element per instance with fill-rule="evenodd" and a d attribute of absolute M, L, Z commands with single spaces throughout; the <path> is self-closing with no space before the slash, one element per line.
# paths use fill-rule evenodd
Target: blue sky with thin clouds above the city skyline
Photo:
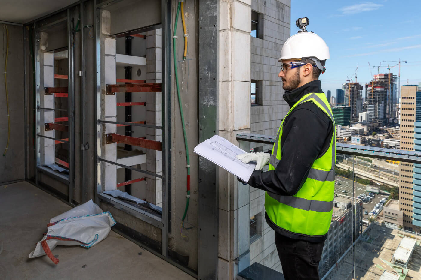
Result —
<path fill-rule="evenodd" d="M 291 0 L 291 35 L 295 21 L 308 17 L 307 30 L 318 34 L 329 46 L 326 72 L 320 75 L 324 92 L 341 88 L 346 76 L 363 86 L 377 74 L 372 66 L 401 63 L 400 85 L 421 82 L 421 0 L 315 1 Z M 370 62 L 370 67 L 368 66 Z M 380 73 L 388 73 L 386 67 Z M 391 69 L 398 74 L 399 66 Z M 370 73 L 371 71 L 371 73 Z M 363 96 L 365 96 L 363 94 Z"/>

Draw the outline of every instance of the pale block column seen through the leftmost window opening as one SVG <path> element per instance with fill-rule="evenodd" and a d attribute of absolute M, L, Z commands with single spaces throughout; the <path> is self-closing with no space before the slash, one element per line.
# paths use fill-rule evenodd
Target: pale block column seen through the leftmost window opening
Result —
<path fill-rule="evenodd" d="M 45 33 L 44 33 L 45 34 Z M 47 34 L 45 34 L 47 36 Z M 43 36 L 44 37 L 44 36 Z M 54 87 L 54 54 L 41 51 L 40 53 L 40 107 L 54 108 L 54 95 L 45 95 L 44 87 Z M 40 114 L 41 135 L 54 137 L 54 130 L 45 131 L 44 124 L 54 122 L 54 111 L 42 110 Z M 41 165 L 54 164 L 55 150 L 54 140 L 48 138 L 39 138 Z"/>

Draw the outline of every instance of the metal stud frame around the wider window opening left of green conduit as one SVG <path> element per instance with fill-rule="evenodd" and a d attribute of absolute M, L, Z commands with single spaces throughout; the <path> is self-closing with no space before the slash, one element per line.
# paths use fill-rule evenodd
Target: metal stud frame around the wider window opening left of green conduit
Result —
<path fill-rule="evenodd" d="M 97 141 L 96 141 L 96 152 L 97 152 L 97 172 L 96 172 L 96 182 L 97 182 L 97 194 L 96 194 L 96 201 L 97 203 L 99 200 L 106 200 L 108 202 L 112 201 L 112 205 L 116 207 L 117 209 L 120 209 L 122 211 L 127 212 L 128 214 L 133 215 L 134 218 L 138 218 L 143 220 L 144 222 L 147 222 L 151 225 L 154 225 L 156 227 L 159 227 L 162 230 L 162 254 L 159 256 L 163 257 L 167 261 L 171 262 L 170 259 L 168 259 L 168 231 L 171 227 L 171 221 L 169 219 L 170 213 L 171 213 L 171 206 L 170 206 L 170 176 L 171 176 L 171 68 L 170 68 L 170 51 L 171 51 L 171 30 L 170 30 L 170 16 L 171 16 L 171 7 L 170 7 L 170 1 L 169 0 L 162 0 L 162 24 L 155 26 L 155 28 L 162 28 L 162 53 L 163 53 L 163 59 L 162 59 L 162 84 L 158 83 L 144 83 L 143 80 L 117 80 L 118 82 L 124 81 L 124 82 L 137 82 L 138 84 L 127 84 L 127 85 L 107 85 L 104 87 L 104 85 L 101 85 L 101 8 L 107 7 L 108 5 L 112 5 L 114 3 L 120 2 L 121 0 L 105 0 L 105 1 L 96 1 L 95 5 L 95 11 L 94 11 L 94 18 L 96 20 L 95 24 L 95 34 L 96 34 L 96 117 L 97 117 Z M 152 28 L 152 29 L 155 29 Z M 152 30 L 150 27 L 148 29 L 139 30 L 136 31 L 137 33 L 146 32 L 148 30 Z M 117 34 L 116 37 L 119 37 L 121 34 Z M 122 35 L 123 36 L 123 35 Z M 163 108 L 163 116 L 162 116 L 162 127 L 156 126 L 156 125 L 148 125 L 144 124 L 142 122 L 111 122 L 111 121 L 105 121 L 101 119 L 101 90 L 102 87 L 104 87 L 105 94 L 110 95 L 114 94 L 114 92 L 162 92 L 162 108 Z M 130 87 L 133 87 L 132 89 Z M 118 104 L 119 106 L 139 106 L 139 105 L 146 105 L 145 103 L 121 103 Z M 107 161 L 100 157 L 101 155 L 101 139 L 102 139 L 102 127 L 104 127 L 104 124 L 120 124 L 120 125 L 132 125 L 132 126 L 141 126 L 141 127 L 150 127 L 155 129 L 162 129 L 162 142 L 157 141 L 151 141 L 151 140 L 144 140 L 137 138 L 136 140 L 133 140 L 130 137 L 130 139 L 125 139 L 126 142 L 128 141 L 136 141 L 136 143 L 140 145 L 148 145 L 149 148 L 155 149 L 155 150 L 162 150 L 162 170 L 163 175 L 158 174 L 149 174 L 151 172 L 147 172 L 145 170 L 135 169 L 131 166 L 124 166 L 122 164 L 113 163 L 111 161 Z M 109 135 L 109 140 L 117 140 L 118 142 L 122 142 L 121 139 L 124 135 Z M 114 137 L 114 139 L 113 139 Z M 107 137 L 106 137 L 107 138 Z M 118 138 L 118 139 L 117 139 Z M 128 137 L 126 137 L 128 138 Z M 124 142 L 124 143 L 126 143 Z M 131 142 L 131 144 L 133 144 Z M 152 145 L 152 146 L 151 146 Z M 101 169 L 101 161 L 106 163 L 115 164 L 117 166 L 121 166 L 124 168 L 128 168 L 131 170 L 135 170 L 138 172 L 143 172 L 145 174 L 153 175 L 158 178 L 163 179 L 163 213 L 162 218 L 157 219 L 157 217 L 149 217 L 145 216 L 145 213 L 142 211 L 139 211 L 139 209 L 131 209 L 125 203 L 122 203 L 116 199 L 113 199 L 111 197 L 108 197 L 107 195 L 104 195 L 101 193 L 102 190 L 102 179 L 104 177 L 104 169 Z M 156 252 L 154 252 L 156 254 Z M 192 275 L 192 272 L 190 270 L 185 269 L 184 267 L 180 267 L 179 265 L 176 265 L 177 267 L 183 269 L 184 271 L 188 272 Z M 194 275 L 197 276 L 197 275 Z"/>

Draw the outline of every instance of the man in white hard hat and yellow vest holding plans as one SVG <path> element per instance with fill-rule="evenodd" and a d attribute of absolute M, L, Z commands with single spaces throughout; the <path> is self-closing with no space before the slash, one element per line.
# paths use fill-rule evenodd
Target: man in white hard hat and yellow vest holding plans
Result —
<path fill-rule="evenodd" d="M 297 20 L 308 24 L 307 18 Z M 300 22 L 301 23 L 301 22 Z M 300 27 L 300 26 L 299 26 Z M 302 26 L 301 26 L 302 28 Z M 290 111 L 269 153 L 237 156 L 257 161 L 248 181 L 266 191 L 265 218 L 285 279 L 319 279 L 319 262 L 330 227 L 335 180 L 335 123 L 318 77 L 329 58 L 326 43 L 305 26 L 282 48 L 279 77 Z M 269 171 L 260 170 L 269 162 Z"/>

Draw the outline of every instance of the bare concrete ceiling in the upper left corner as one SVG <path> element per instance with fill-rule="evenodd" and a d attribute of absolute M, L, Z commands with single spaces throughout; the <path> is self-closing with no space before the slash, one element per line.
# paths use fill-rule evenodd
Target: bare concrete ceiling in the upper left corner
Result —
<path fill-rule="evenodd" d="M 78 0 L 1 0 L 0 21 L 25 24 Z"/>

